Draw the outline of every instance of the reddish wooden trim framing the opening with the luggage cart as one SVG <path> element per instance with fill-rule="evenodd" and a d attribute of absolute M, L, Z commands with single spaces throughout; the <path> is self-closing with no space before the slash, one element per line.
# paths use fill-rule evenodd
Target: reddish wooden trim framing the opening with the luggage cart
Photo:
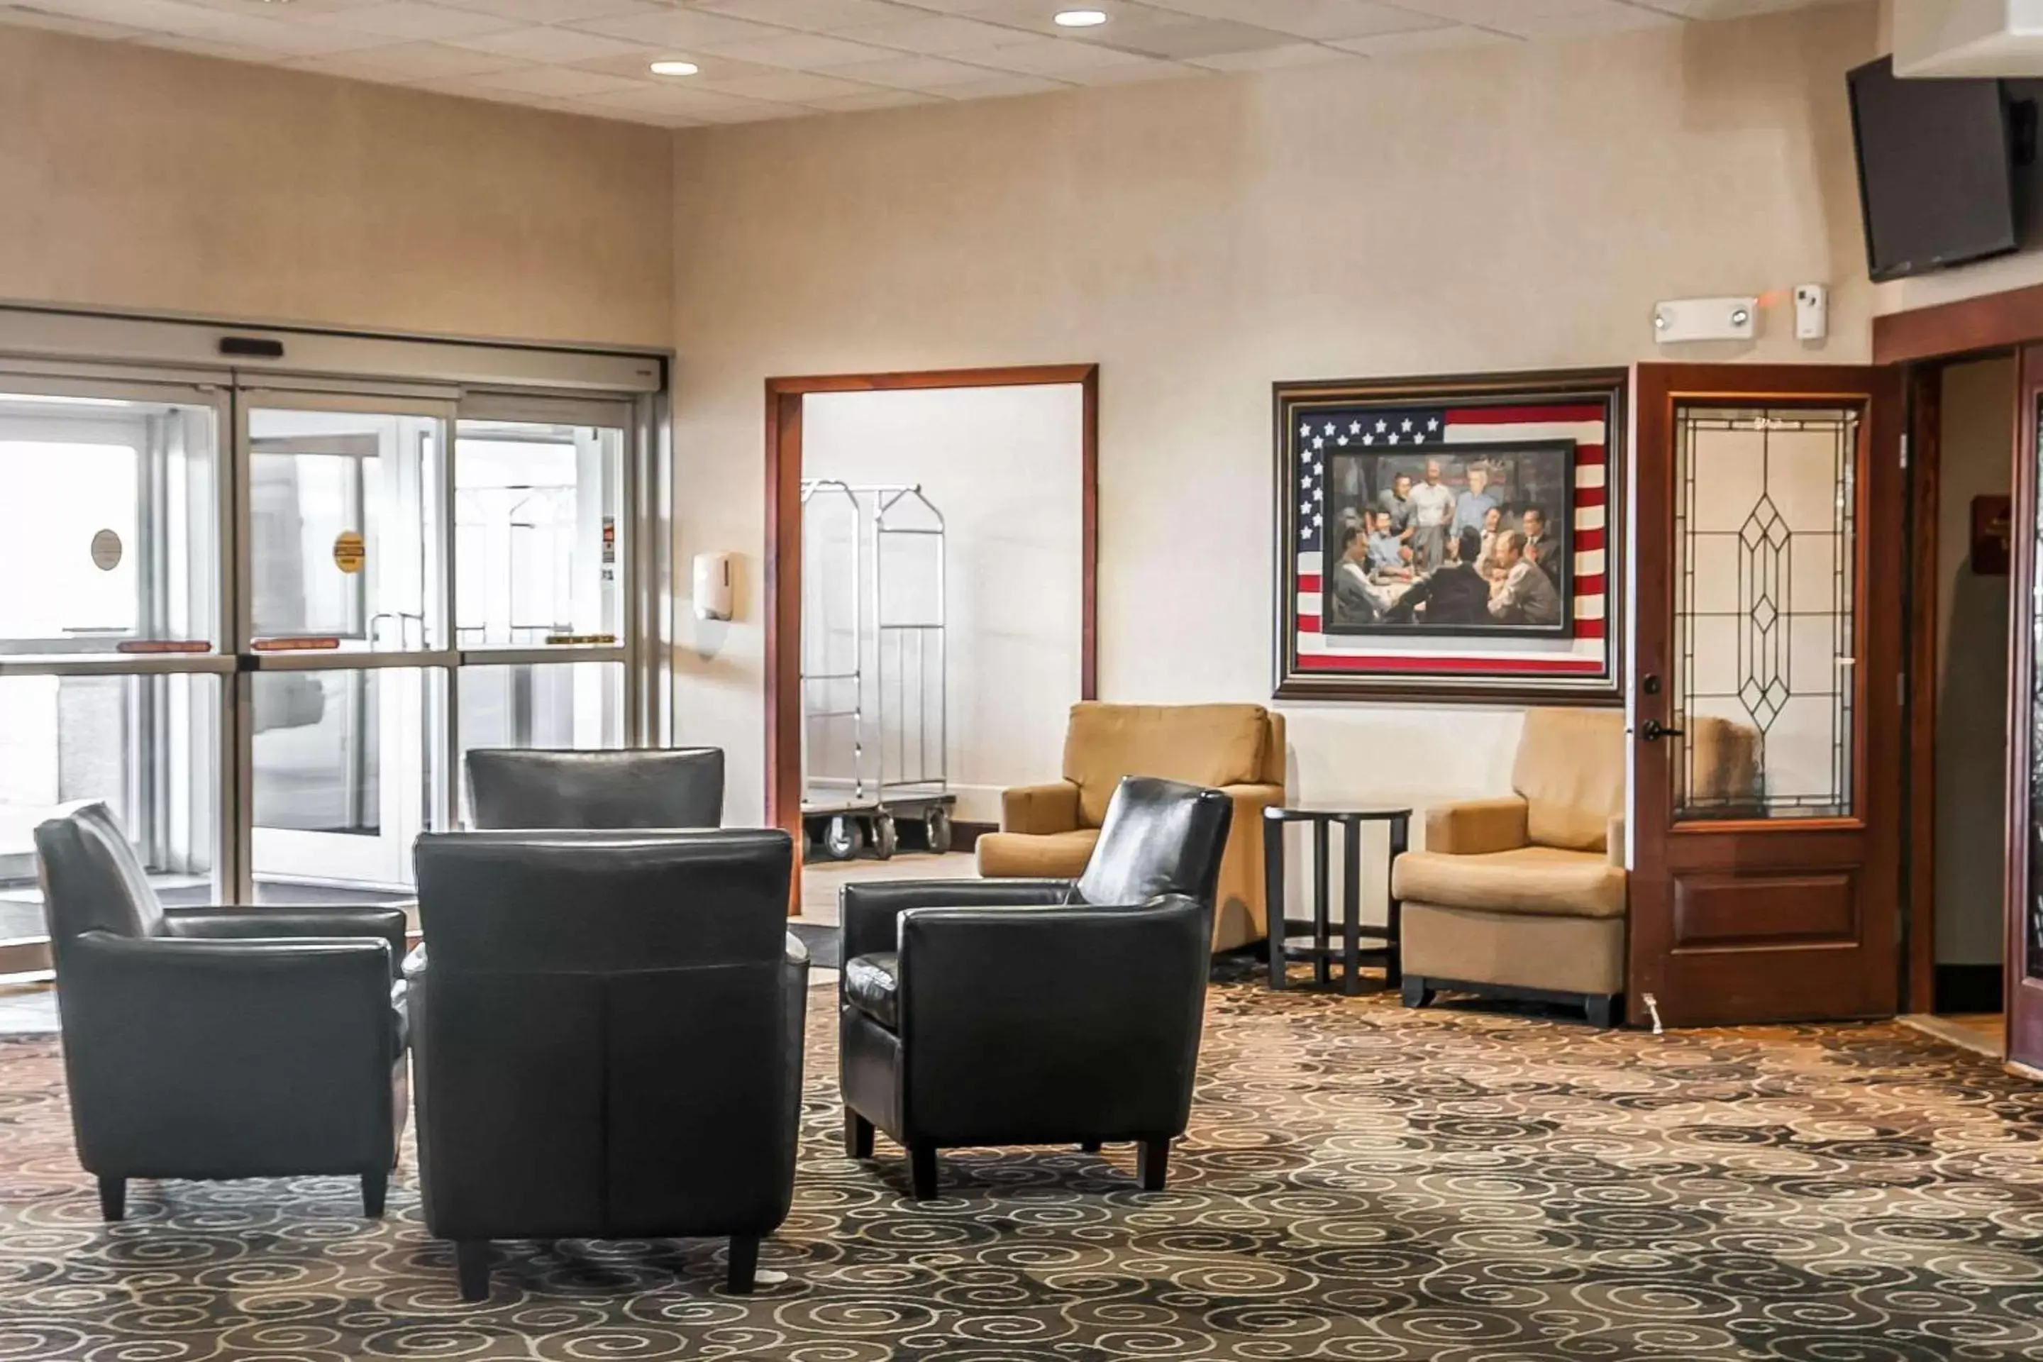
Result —
<path fill-rule="evenodd" d="M 1077 384 L 1081 406 L 1079 698 L 1099 690 L 1099 366 L 815 374 L 766 380 L 766 825 L 801 837 L 801 406 L 811 392 L 1044 388 Z M 799 898 L 799 894 L 797 894 Z"/>

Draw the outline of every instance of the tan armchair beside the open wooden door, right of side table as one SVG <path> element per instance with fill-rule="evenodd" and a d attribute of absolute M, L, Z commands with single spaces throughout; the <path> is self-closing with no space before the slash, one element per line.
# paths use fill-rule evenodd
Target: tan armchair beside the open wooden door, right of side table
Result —
<path fill-rule="evenodd" d="M 1426 849 L 1391 868 L 1404 1001 L 1567 1001 L 1608 1027 L 1624 992 L 1624 715 L 1530 711 L 1512 788 L 1430 809 Z"/>

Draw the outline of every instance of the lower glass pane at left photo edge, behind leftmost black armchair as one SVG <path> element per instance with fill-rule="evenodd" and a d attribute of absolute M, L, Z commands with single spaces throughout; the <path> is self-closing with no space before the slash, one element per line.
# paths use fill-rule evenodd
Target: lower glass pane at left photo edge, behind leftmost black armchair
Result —
<path fill-rule="evenodd" d="M 0 939 L 45 935 L 35 827 L 104 800 L 170 903 L 208 903 L 217 676 L 0 676 Z"/>

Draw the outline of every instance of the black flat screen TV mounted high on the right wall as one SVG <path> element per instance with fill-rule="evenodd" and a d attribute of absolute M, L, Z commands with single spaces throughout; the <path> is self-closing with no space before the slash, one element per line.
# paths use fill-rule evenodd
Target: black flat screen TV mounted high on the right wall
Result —
<path fill-rule="evenodd" d="M 1849 82 L 1875 280 L 2021 245 L 2010 112 L 1998 80 L 1900 80 L 1894 59 L 1882 57 Z"/>

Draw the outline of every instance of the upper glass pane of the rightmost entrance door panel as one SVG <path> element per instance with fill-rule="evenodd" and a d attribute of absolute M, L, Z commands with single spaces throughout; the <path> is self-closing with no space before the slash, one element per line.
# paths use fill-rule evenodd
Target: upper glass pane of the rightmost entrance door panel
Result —
<path fill-rule="evenodd" d="M 621 500 L 623 431 L 462 421 L 458 645 L 617 643 Z"/>

